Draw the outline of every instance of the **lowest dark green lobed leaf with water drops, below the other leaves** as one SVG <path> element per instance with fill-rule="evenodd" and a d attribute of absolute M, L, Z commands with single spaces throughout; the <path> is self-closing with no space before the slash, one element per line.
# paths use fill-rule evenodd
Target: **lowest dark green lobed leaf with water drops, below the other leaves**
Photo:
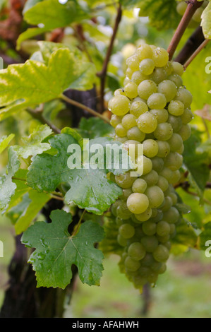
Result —
<path fill-rule="evenodd" d="M 23 244 L 36 249 L 30 256 L 30 263 L 36 273 L 37 287 L 66 288 L 72 278 L 73 264 L 78 267 L 83 283 L 100 285 L 104 257 L 94 244 L 104 236 L 102 227 L 86 221 L 76 235 L 70 235 L 70 213 L 56 210 L 52 212 L 51 219 L 49 224 L 35 223 L 22 237 Z"/>

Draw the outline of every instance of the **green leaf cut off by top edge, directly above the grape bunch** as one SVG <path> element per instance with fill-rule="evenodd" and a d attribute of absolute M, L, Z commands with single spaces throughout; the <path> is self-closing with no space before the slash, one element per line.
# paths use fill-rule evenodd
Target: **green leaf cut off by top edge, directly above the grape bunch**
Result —
<path fill-rule="evenodd" d="M 181 20 L 175 0 L 140 0 L 139 8 L 139 16 L 148 16 L 158 30 L 176 28 Z"/>

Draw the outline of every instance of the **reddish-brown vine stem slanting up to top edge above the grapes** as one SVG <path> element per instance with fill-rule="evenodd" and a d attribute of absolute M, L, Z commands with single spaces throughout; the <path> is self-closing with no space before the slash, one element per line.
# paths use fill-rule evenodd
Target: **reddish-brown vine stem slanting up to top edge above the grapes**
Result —
<path fill-rule="evenodd" d="M 174 52 L 176 51 L 176 47 L 179 45 L 181 37 L 183 36 L 183 33 L 186 31 L 186 28 L 188 28 L 188 24 L 190 23 L 193 14 L 195 13 L 196 9 L 199 8 L 202 4 L 203 3 L 199 2 L 198 0 L 188 1 L 188 7 L 186 8 L 186 12 L 184 13 L 167 49 L 167 51 L 169 52 L 170 61 L 174 57 Z"/>

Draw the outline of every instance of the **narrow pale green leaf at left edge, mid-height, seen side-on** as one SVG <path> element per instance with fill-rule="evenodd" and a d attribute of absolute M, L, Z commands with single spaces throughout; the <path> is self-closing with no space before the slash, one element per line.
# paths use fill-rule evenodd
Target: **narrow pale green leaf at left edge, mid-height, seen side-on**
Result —
<path fill-rule="evenodd" d="M 20 161 L 18 155 L 12 147 L 8 148 L 8 167 L 7 174 L 0 178 L 0 210 L 6 208 L 15 194 L 16 184 L 13 183 L 12 177 L 18 172 Z"/>

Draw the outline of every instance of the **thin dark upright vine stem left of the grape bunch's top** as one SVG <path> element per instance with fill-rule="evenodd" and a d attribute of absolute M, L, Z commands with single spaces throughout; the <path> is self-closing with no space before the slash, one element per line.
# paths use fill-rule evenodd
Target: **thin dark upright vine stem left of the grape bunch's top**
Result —
<path fill-rule="evenodd" d="M 107 49 L 107 54 L 104 59 L 104 63 L 102 65 L 102 71 L 100 71 L 100 73 L 97 73 L 97 76 L 100 78 L 100 108 L 101 108 L 100 110 L 101 110 L 101 112 L 104 112 L 104 87 L 105 87 L 106 76 L 107 76 L 107 68 L 108 68 L 110 57 L 111 57 L 112 49 L 114 46 L 114 40 L 116 38 L 116 33 L 119 28 L 119 23 L 121 22 L 121 16 L 122 16 L 122 9 L 121 9 L 121 4 L 119 4 L 110 44 Z"/>

